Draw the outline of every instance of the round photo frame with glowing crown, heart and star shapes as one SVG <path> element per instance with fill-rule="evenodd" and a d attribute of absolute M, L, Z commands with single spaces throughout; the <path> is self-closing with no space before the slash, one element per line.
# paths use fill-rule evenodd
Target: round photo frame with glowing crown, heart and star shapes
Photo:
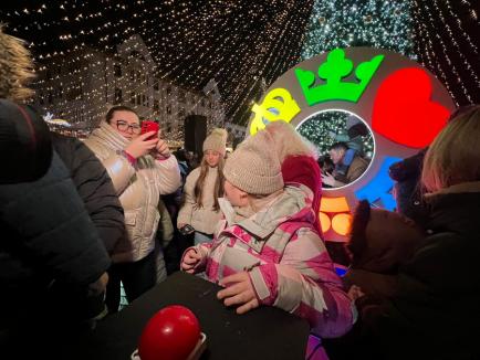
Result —
<path fill-rule="evenodd" d="M 253 105 L 248 133 L 278 120 L 298 128 L 326 110 L 351 113 L 368 125 L 375 152 L 366 172 L 351 184 L 323 190 L 324 239 L 344 242 L 359 200 L 395 209 L 389 166 L 427 147 L 453 109 L 448 91 L 415 61 L 382 49 L 335 49 L 280 76 Z"/>

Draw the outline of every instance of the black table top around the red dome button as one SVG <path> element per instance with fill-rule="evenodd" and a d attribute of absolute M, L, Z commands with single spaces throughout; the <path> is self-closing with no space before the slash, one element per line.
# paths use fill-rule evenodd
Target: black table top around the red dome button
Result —
<path fill-rule="evenodd" d="M 175 273 L 70 348 L 69 359 L 129 359 L 148 319 L 168 305 L 191 309 L 207 335 L 201 359 L 304 359 L 309 324 L 274 307 L 237 315 L 216 297 L 220 287 L 197 276 Z"/>

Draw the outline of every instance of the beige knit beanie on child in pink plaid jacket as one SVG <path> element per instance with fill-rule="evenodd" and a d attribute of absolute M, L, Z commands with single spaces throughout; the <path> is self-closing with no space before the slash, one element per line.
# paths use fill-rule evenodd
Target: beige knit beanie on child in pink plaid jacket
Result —
<path fill-rule="evenodd" d="M 268 195 L 283 188 L 275 145 L 267 131 L 249 137 L 230 155 L 225 178 L 249 194 Z"/>

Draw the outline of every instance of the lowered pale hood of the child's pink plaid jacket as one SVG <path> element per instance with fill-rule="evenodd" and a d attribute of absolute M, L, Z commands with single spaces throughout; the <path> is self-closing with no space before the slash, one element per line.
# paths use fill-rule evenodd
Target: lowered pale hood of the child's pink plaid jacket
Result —
<path fill-rule="evenodd" d="M 219 199 L 228 227 L 236 224 L 259 239 L 268 237 L 284 222 L 306 222 L 313 225 L 315 213 L 312 210 L 312 202 L 313 193 L 307 187 L 289 183 L 283 193 L 274 198 L 264 209 L 236 222 L 233 219 L 238 210 L 226 198 Z"/>

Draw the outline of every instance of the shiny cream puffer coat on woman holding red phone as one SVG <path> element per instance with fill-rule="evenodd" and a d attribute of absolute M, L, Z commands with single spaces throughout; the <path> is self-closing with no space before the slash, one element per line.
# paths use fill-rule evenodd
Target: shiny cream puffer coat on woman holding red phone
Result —
<path fill-rule="evenodd" d="M 160 194 L 171 193 L 180 186 L 180 172 L 174 156 L 158 161 L 147 155 L 137 159 L 134 168 L 122 155 L 128 142 L 106 123 L 102 123 L 85 140 L 108 171 L 125 211 L 128 237 L 122 242 L 121 248 L 115 248 L 112 260 L 116 263 L 139 261 L 154 250 L 160 219 Z"/>

